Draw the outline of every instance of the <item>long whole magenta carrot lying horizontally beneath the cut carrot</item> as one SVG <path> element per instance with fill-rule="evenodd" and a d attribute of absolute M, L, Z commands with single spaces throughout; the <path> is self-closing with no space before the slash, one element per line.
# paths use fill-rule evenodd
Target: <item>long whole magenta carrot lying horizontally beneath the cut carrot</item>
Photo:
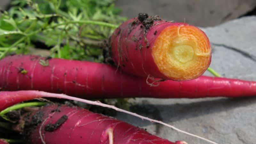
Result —
<path fill-rule="evenodd" d="M 190 81 L 160 82 L 150 87 L 146 78 L 122 74 L 106 64 L 15 55 L 0 60 L 1 91 L 40 90 L 84 98 L 203 98 L 256 96 L 256 82 L 200 76 Z M 26 70 L 25 74 L 21 69 Z"/>

